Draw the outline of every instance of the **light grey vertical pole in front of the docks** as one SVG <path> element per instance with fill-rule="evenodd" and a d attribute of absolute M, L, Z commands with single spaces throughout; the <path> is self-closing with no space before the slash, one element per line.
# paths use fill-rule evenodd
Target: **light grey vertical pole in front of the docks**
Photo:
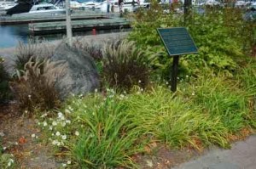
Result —
<path fill-rule="evenodd" d="M 70 10 L 70 0 L 66 0 L 66 29 L 67 29 L 67 43 L 72 46 L 72 25 L 71 25 L 71 10 Z"/>

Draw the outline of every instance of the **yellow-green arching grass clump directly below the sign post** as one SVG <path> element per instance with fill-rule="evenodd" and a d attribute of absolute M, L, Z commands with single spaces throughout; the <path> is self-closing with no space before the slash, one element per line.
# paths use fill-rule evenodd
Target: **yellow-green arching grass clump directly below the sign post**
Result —
<path fill-rule="evenodd" d="M 171 148 L 218 144 L 228 147 L 227 129 L 219 121 L 201 113 L 200 106 L 194 106 L 181 97 L 173 98 L 165 87 L 153 87 L 151 91 L 131 94 L 124 104 L 126 113 L 132 117 L 142 134 L 166 143 Z"/>

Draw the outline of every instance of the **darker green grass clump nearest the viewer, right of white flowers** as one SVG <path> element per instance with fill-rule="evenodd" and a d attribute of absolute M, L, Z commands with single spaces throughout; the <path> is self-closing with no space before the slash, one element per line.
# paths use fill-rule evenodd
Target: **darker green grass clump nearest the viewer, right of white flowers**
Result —
<path fill-rule="evenodd" d="M 73 147 L 73 155 L 80 167 L 132 168 L 131 155 L 139 150 L 133 148 L 139 135 L 124 109 L 115 100 L 106 99 L 97 107 L 88 107 L 88 113 L 79 112 L 85 131 Z"/>

